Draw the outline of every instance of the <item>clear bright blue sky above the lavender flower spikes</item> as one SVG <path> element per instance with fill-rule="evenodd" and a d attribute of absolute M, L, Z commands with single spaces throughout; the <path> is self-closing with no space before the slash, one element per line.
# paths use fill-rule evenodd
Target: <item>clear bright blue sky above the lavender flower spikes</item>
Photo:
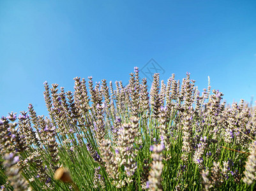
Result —
<path fill-rule="evenodd" d="M 66 90 L 76 76 L 125 84 L 151 59 L 162 80 L 188 71 L 202 91 L 210 76 L 227 102 L 250 102 L 256 2 L 0 1 L 1 115 L 29 103 L 47 115 L 44 81 Z"/>

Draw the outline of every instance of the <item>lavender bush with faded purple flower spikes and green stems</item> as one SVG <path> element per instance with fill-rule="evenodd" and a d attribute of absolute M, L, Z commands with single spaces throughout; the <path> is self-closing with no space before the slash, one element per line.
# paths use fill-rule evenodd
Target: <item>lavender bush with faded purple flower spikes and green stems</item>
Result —
<path fill-rule="evenodd" d="M 256 108 L 190 79 L 44 83 L 49 117 L 0 120 L 1 190 L 254 190 Z M 88 87 L 88 88 L 87 88 Z M 212 92 L 212 93 L 211 93 Z"/>

